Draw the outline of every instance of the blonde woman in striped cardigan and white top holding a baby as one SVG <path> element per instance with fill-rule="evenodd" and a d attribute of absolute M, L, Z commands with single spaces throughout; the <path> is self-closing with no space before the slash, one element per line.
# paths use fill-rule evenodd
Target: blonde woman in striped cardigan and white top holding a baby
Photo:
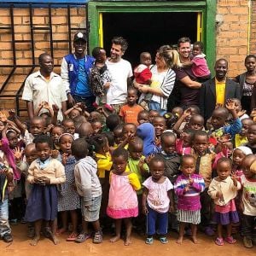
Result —
<path fill-rule="evenodd" d="M 155 65 L 151 68 L 152 83 L 150 86 L 134 82 L 135 87 L 143 92 L 139 102 L 143 100 L 145 94 L 150 93 L 152 97 L 148 102 L 148 108 L 157 110 L 161 115 L 166 113 L 167 99 L 172 92 L 176 78 L 172 67 L 178 66 L 180 62 L 177 51 L 170 45 L 161 46 L 155 55 Z"/>

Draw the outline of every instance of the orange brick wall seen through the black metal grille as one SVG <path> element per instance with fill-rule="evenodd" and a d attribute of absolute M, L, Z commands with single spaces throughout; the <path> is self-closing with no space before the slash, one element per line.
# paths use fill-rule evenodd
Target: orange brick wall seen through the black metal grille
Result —
<path fill-rule="evenodd" d="M 67 26 L 67 8 L 53 8 L 51 9 L 53 40 L 68 39 Z M 35 27 L 45 27 L 49 25 L 49 13 L 46 8 L 32 9 L 32 23 Z M 71 27 L 84 28 L 85 27 L 85 8 L 71 8 Z M 9 9 L 1 9 L 0 11 L 0 27 L 10 26 L 11 19 Z M 31 40 L 31 20 L 28 8 L 14 8 L 14 24 L 15 24 L 15 40 Z M 73 30 L 73 33 L 76 32 Z M 73 37 L 73 35 L 72 35 Z M 34 32 L 34 47 L 35 57 L 38 58 L 43 52 L 50 53 L 49 46 L 49 32 L 39 30 Z M 61 59 L 68 54 L 67 43 L 54 43 L 54 61 L 55 64 L 61 64 Z M 32 46 L 30 43 L 16 43 L 16 64 L 17 65 L 32 65 Z M 14 55 L 12 51 L 12 35 L 9 29 L 0 29 L 0 65 L 13 65 Z M 37 62 L 36 62 L 37 63 Z M 0 86 L 7 78 L 11 68 L 0 67 Z M 15 75 L 9 80 L 9 84 L 4 90 L 3 94 L 15 94 L 15 91 L 20 88 L 20 84 L 26 78 L 30 68 L 22 67 L 15 70 Z M 55 67 L 55 72 L 59 73 L 60 68 Z M 15 100 L 7 98 L 0 100 L 1 108 L 15 108 Z"/>

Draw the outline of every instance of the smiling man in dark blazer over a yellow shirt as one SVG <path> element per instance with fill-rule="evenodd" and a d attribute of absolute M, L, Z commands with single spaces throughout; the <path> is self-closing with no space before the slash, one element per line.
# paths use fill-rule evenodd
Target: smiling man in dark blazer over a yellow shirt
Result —
<path fill-rule="evenodd" d="M 227 99 L 241 98 L 240 85 L 226 77 L 228 61 L 219 59 L 214 70 L 215 78 L 203 83 L 200 91 L 200 109 L 205 121 L 212 116 L 217 105 L 224 107 Z"/>

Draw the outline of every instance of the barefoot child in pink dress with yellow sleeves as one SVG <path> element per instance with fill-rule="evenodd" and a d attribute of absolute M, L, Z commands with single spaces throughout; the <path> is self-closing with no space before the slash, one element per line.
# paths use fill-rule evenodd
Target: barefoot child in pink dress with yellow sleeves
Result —
<path fill-rule="evenodd" d="M 122 219 L 124 219 L 125 246 L 130 246 L 131 218 L 138 215 L 136 190 L 141 189 L 141 185 L 135 173 L 125 172 L 128 161 L 128 151 L 125 148 L 115 149 L 112 159 L 113 171 L 110 173 L 107 214 L 115 219 L 115 236 L 110 239 L 110 242 L 119 241 Z"/>

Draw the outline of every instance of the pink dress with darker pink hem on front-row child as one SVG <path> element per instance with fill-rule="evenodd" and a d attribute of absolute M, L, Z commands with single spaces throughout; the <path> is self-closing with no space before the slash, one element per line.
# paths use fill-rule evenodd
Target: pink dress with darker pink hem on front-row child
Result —
<path fill-rule="evenodd" d="M 111 218 L 131 218 L 138 215 L 137 194 L 129 178 L 131 174 L 111 175 L 107 208 L 107 214 Z"/>

